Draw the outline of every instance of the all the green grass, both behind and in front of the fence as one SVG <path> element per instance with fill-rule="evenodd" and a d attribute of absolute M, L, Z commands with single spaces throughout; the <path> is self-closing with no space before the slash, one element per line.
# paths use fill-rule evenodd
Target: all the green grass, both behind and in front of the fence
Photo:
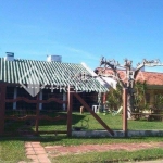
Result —
<path fill-rule="evenodd" d="M 110 126 L 112 129 L 122 129 L 122 116 L 111 114 L 99 116 Z M 14 124 L 14 123 L 13 123 Z M 16 124 L 16 123 L 15 123 Z M 66 121 L 60 122 L 40 122 L 39 130 L 54 130 L 54 129 L 66 129 Z M 23 125 L 23 124 L 22 124 Z M 17 125 L 18 127 L 20 124 Z M 103 127 L 92 117 L 90 113 L 85 112 L 84 114 L 74 113 L 73 114 L 73 126 L 83 126 L 85 129 L 103 129 Z M 16 127 L 10 126 L 12 129 Z M 33 126 L 30 129 L 35 129 Z M 163 129 L 163 122 L 152 121 L 148 122 L 141 121 L 128 121 L 128 129 Z M 61 145 L 61 146 L 78 146 L 83 143 L 131 143 L 131 142 L 159 142 L 163 141 L 163 137 L 139 137 L 139 138 L 67 138 L 66 136 L 38 136 L 35 138 L 27 137 L 1 137 L 0 138 L 0 163 L 9 161 L 10 163 L 17 163 L 18 161 L 26 161 L 24 142 L 25 141 L 40 141 L 42 146 L 48 145 Z M 163 159 L 163 149 L 148 149 L 138 150 L 134 152 L 127 151 L 111 151 L 111 152 L 92 152 L 83 153 L 77 155 L 66 155 L 52 159 L 53 163 L 84 163 L 84 162 L 123 162 L 129 160 L 152 160 L 152 159 Z"/>

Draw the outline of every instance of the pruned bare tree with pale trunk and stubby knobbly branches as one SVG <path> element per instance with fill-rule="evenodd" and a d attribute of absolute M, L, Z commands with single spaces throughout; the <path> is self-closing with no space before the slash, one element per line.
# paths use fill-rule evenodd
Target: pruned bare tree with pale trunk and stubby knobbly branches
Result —
<path fill-rule="evenodd" d="M 114 79 L 116 79 L 120 83 L 120 85 L 123 88 L 128 89 L 128 95 L 127 95 L 128 118 L 131 117 L 131 112 L 134 112 L 134 101 L 135 101 L 134 86 L 135 86 L 135 82 L 136 82 L 136 78 L 140 72 L 140 70 L 143 68 L 145 66 L 163 66 L 163 64 L 161 64 L 160 60 L 148 61 L 148 60 L 143 59 L 142 62 L 138 63 L 137 66 L 134 68 L 133 61 L 130 61 L 128 59 L 125 59 L 124 64 L 121 65 L 114 59 L 106 60 L 106 59 L 104 59 L 104 57 L 102 57 L 102 59 L 100 61 L 100 66 L 102 66 L 102 65 L 104 65 L 104 67 L 101 68 L 100 71 L 98 71 L 99 76 L 113 77 Z M 113 74 L 109 74 L 109 75 L 105 74 L 106 68 L 111 68 L 113 71 Z M 122 70 L 125 71 L 125 79 L 122 78 L 122 76 L 118 73 Z"/>

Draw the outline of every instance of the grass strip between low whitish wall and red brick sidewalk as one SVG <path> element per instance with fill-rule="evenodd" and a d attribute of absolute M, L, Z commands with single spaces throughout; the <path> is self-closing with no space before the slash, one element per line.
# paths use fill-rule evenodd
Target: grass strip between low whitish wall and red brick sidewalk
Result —
<path fill-rule="evenodd" d="M 131 137 L 131 138 L 68 138 L 66 136 L 45 136 L 40 137 L 42 146 L 78 146 L 78 145 L 103 145 L 103 143 L 141 143 L 141 142 L 160 142 L 163 137 Z"/>

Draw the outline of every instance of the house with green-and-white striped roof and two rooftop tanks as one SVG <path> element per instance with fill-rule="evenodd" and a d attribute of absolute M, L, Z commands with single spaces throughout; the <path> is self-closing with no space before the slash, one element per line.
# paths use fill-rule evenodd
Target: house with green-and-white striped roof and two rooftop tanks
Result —
<path fill-rule="evenodd" d="M 96 104 L 98 92 L 105 92 L 105 83 L 91 72 L 86 64 L 63 63 L 60 55 L 49 55 L 47 61 L 14 59 L 13 53 L 0 58 L 0 85 L 7 86 L 7 99 L 25 97 L 47 100 L 55 97 L 66 100 L 67 86 L 79 95 L 91 106 Z M 80 103 L 74 99 L 73 109 L 78 110 Z M 36 103 L 24 101 L 7 102 L 5 110 L 35 110 Z M 51 102 L 40 103 L 40 110 L 66 110 L 66 104 Z"/>

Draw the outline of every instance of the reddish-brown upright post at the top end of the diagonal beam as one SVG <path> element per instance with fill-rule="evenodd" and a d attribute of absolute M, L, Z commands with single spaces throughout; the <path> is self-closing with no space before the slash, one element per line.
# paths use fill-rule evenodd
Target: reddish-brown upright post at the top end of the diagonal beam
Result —
<path fill-rule="evenodd" d="M 72 104 L 73 104 L 73 92 L 71 87 L 67 89 L 67 136 L 72 136 Z"/>

